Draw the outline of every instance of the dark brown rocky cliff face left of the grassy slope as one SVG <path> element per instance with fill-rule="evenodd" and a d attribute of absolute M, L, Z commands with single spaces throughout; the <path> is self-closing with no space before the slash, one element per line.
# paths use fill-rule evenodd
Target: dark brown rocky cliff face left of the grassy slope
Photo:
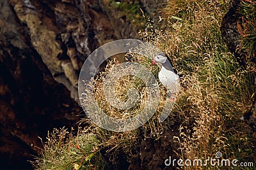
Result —
<path fill-rule="evenodd" d="M 138 1 L 154 19 L 161 3 Z M 31 169 L 38 136 L 76 127 L 86 57 L 109 41 L 138 38 L 138 27 L 104 0 L 3 0 L 0 8 L 0 164 Z"/>

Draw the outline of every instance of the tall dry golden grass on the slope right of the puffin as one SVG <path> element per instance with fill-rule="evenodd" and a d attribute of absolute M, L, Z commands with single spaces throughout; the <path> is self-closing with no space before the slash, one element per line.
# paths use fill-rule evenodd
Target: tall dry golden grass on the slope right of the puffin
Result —
<path fill-rule="evenodd" d="M 167 53 L 183 75 L 173 110 L 185 117 L 176 138 L 181 146 L 176 148 L 179 156 L 207 159 L 222 152 L 223 158 L 255 163 L 255 134 L 240 119 L 252 104 L 255 73 L 249 67 L 242 69 L 221 39 L 220 24 L 227 4 L 168 1 L 163 27 L 148 27 L 140 34 Z"/>

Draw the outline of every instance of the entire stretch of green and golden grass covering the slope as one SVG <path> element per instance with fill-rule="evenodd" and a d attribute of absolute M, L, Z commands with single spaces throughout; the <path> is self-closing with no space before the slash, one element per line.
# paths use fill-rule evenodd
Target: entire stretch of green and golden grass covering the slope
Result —
<path fill-rule="evenodd" d="M 243 6 L 248 9 L 245 4 Z M 129 9 L 128 7 L 128 4 L 117 5 L 117 8 L 122 9 Z M 82 164 L 77 169 L 107 169 L 104 167 L 104 157 L 100 155 L 100 151 L 104 150 L 104 154 L 113 160 L 113 164 L 118 161 L 118 153 L 122 153 L 129 161 L 138 152 L 141 138 L 157 140 L 161 132 L 173 124 L 180 127 L 179 136 L 176 136 L 180 147 L 173 150 L 182 159 L 208 159 L 214 157 L 216 152 L 221 152 L 224 159 L 237 159 L 239 162 L 255 164 L 255 132 L 253 134 L 249 125 L 241 120 L 244 111 L 250 109 L 251 97 L 255 94 L 255 71 L 253 72 L 252 67 L 240 67 L 221 38 L 221 20 L 227 12 L 227 7 L 227 2 L 217 0 L 168 1 L 163 9 L 161 29 L 155 29 L 148 24 L 147 29 L 140 32 L 141 39 L 153 43 L 165 52 L 172 60 L 173 67 L 182 74 L 182 87 L 167 120 L 159 123 L 159 114 L 163 110 L 166 95 L 164 87 L 161 86 L 161 102 L 156 114 L 147 124 L 134 131 L 111 132 L 96 127 L 84 118 L 82 122 L 90 124 L 91 127 L 77 136 L 64 140 L 66 131 L 52 132 L 45 144 L 43 156 L 34 162 L 38 169 L 75 169 L 75 164 Z M 255 14 L 255 6 L 253 9 Z M 247 11 L 250 10 L 246 10 L 247 17 L 244 19 L 249 24 L 252 15 Z M 254 28 L 252 31 L 255 31 L 255 22 L 251 25 Z M 248 49 L 248 56 L 255 56 L 255 50 L 252 50 L 255 49 L 255 41 L 249 41 L 250 37 L 247 36 L 244 38 L 243 48 Z M 131 54 L 129 57 L 157 75 L 159 69 L 152 66 L 151 60 L 140 55 Z M 111 117 L 131 117 L 143 109 L 147 89 L 138 79 L 125 76 L 116 84 L 116 96 L 125 101 L 127 89 L 132 87 L 140 91 L 139 102 L 129 110 L 118 110 L 109 106 L 104 99 L 102 87 L 104 77 L 115 64 L 118 64 L 115 60 L 109 62 L 106 72 L 101 73 L 89 85 L 93 87 L 95 99 L 105 113 Z M 90 97 L 92 96 L 87 98 L 88 101 Z M 93 110 L 93 106 L 88 104 L 88 111 L 90 110 Z M 129 115 L 130 113 L 132 114 Z M 186 167 L 204 168 L 212 167 Z"/>

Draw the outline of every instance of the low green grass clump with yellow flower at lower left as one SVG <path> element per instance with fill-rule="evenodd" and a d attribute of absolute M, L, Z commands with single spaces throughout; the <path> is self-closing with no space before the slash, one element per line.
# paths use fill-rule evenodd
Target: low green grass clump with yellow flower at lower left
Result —
<path fill-rule="evenodd" d="M 33 162 L 35 169 L 106 169 L 99 152 L 99 139 L 92 132 L 80 131 L 77 136 L 67 129 L 48 133 L 41 157 Z"/>

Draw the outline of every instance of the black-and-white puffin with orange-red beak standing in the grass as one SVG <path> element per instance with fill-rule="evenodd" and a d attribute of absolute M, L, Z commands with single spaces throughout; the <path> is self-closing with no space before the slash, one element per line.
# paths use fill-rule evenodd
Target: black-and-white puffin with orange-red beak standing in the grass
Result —
<path fill-rule="evenodd" d="M 174 72 L 170 60 L 164 53 L 159 53 L 153 58 L 152 64 L 156 65 L 157 63 L 161 64 L 161 70 L 158 73 L 159 81 L 168 90 L 167 96 L 170 101 L 174 102 L 179 89 L 179 76 Z"/>

